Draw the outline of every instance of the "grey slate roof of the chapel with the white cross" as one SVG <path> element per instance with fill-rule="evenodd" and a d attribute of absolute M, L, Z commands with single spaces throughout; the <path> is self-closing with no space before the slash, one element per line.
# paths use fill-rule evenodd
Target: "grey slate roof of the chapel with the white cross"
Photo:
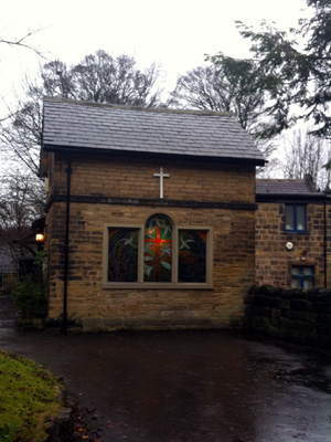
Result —
<path fill-rule="evenodd" d="M 44 98 L 43 149 L 148 152 L 265 160 L 229 113 Z"/>

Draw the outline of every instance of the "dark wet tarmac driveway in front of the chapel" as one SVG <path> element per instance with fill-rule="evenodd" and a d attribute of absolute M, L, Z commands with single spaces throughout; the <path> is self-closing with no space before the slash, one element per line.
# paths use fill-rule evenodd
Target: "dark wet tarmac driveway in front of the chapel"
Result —
<path fill-rule="evenodd" d="M 92 415 L 103 442 L 330 442 L 331 361 L 224 332 L 0 330 Z"/>

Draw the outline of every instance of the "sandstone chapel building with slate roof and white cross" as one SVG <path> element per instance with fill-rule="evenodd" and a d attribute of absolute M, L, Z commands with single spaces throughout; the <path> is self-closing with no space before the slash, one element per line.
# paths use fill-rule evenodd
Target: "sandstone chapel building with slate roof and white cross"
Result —
<path fill-rule="evenodd" d="M 241 324 L 264 162 L 231 114 L 45 98 L 49 323 Z"/>

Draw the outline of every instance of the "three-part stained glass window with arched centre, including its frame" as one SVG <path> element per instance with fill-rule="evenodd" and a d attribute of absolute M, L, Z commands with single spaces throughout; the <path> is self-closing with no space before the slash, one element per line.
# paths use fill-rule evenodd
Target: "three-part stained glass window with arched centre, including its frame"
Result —
<path fill-rule="evenodd" d="M 105 225 L 104 287 L 212 288 L 212 230 L 175 225 L 163 213 L 145 224 Z"/>

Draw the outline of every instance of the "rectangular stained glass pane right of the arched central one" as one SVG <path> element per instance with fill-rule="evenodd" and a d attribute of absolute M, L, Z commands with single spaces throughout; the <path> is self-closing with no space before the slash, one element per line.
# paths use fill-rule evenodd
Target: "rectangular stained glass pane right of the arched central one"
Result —
<path fill-rule="evenodd" d="M 206 282 L 206 231 L 179 230 L 179 283 Z"/>

